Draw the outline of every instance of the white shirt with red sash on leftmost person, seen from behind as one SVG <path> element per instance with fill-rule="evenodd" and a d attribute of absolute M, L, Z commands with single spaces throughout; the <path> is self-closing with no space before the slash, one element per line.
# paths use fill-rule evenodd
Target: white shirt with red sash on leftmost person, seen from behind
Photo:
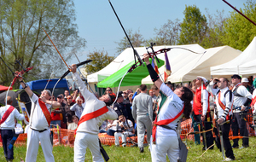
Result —
<path fill-rule="evenodd" d="M 0 107 L 0 119 L 3 118 L 3 114 L 9 109 L 10 105 L 6 107 Z M 15 108 L 12 113 L 9 114 L 9 117 L 1 124 L 2 130 L 14 130 L 15 129 L 15 119 L 24 120 L 25 117 L 23 114 L 19 113 Z"/>

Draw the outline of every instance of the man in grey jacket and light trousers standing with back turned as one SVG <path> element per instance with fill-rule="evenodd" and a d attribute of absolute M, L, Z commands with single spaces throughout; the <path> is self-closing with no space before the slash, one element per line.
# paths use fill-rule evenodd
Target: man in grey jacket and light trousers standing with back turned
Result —
<path fill-rule="evenodd" d="M 143 142 L 145 127 L 147 129 L 147 141 L 150 142 L 153 122 L 152 97 L 147 94 L 147 85 L 140 85 L 141 93 L 137 95 L 132 102 L 132 116 L 137 123 L 137 141 L 140 152 L 143 153 Z"/>

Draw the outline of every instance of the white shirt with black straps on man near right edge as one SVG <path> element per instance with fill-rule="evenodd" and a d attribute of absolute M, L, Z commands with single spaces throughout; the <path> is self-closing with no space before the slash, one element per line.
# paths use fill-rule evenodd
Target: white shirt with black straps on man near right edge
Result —
<path fill-rule="evenodd" d="M 236 89 L 236 86 L 233 88 L 232 91 L 234 91 L 235 89 Z M 252 100 L 252 94 L 247 90 L 247 88 L 245 88 L 245 86 L 240 85 L 237 88 L 236 92 L 242 97 L 234 96 L 234 103 L 233 103 L 234 107 L 241 107 L 247 101 L 247 98 Z M 241 110 L 238 110 L 238 109 L 233 110 L 233 113 L 240 113 L 240 112 Z"/>

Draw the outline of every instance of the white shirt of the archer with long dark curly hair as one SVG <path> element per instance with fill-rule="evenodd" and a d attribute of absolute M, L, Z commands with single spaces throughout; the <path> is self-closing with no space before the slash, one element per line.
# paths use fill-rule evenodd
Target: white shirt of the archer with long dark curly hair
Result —
<path fill-rule="evenodd" d="M 165 119 L 173 119 L 183 109 L 183 101 L 166 85 L 161 84 L 160 90 L 167 95 L 167 99 L 162 107 L 160 107 L 160 113 L 157 116 L 157 121 Z M 172 123 L 167 124 L 172 129 L 176 129 L 177 122 L 183 115 L 179 116 Z M 161 126 L 156 127 L 156 136 L 177 136 L 174 130 L 168 130 Z"/>

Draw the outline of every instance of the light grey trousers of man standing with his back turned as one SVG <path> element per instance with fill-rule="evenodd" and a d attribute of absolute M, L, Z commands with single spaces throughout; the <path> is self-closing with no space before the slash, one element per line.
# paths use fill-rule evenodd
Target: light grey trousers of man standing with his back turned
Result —
<path fill-rule="evenodd" d="M 147 129 L 147 142 L 150 143 L 150 136 L 152 131 L 152 122 L 148 115 L 137 116 L 137 146 L 143 148 L 145 127 Z"/>

